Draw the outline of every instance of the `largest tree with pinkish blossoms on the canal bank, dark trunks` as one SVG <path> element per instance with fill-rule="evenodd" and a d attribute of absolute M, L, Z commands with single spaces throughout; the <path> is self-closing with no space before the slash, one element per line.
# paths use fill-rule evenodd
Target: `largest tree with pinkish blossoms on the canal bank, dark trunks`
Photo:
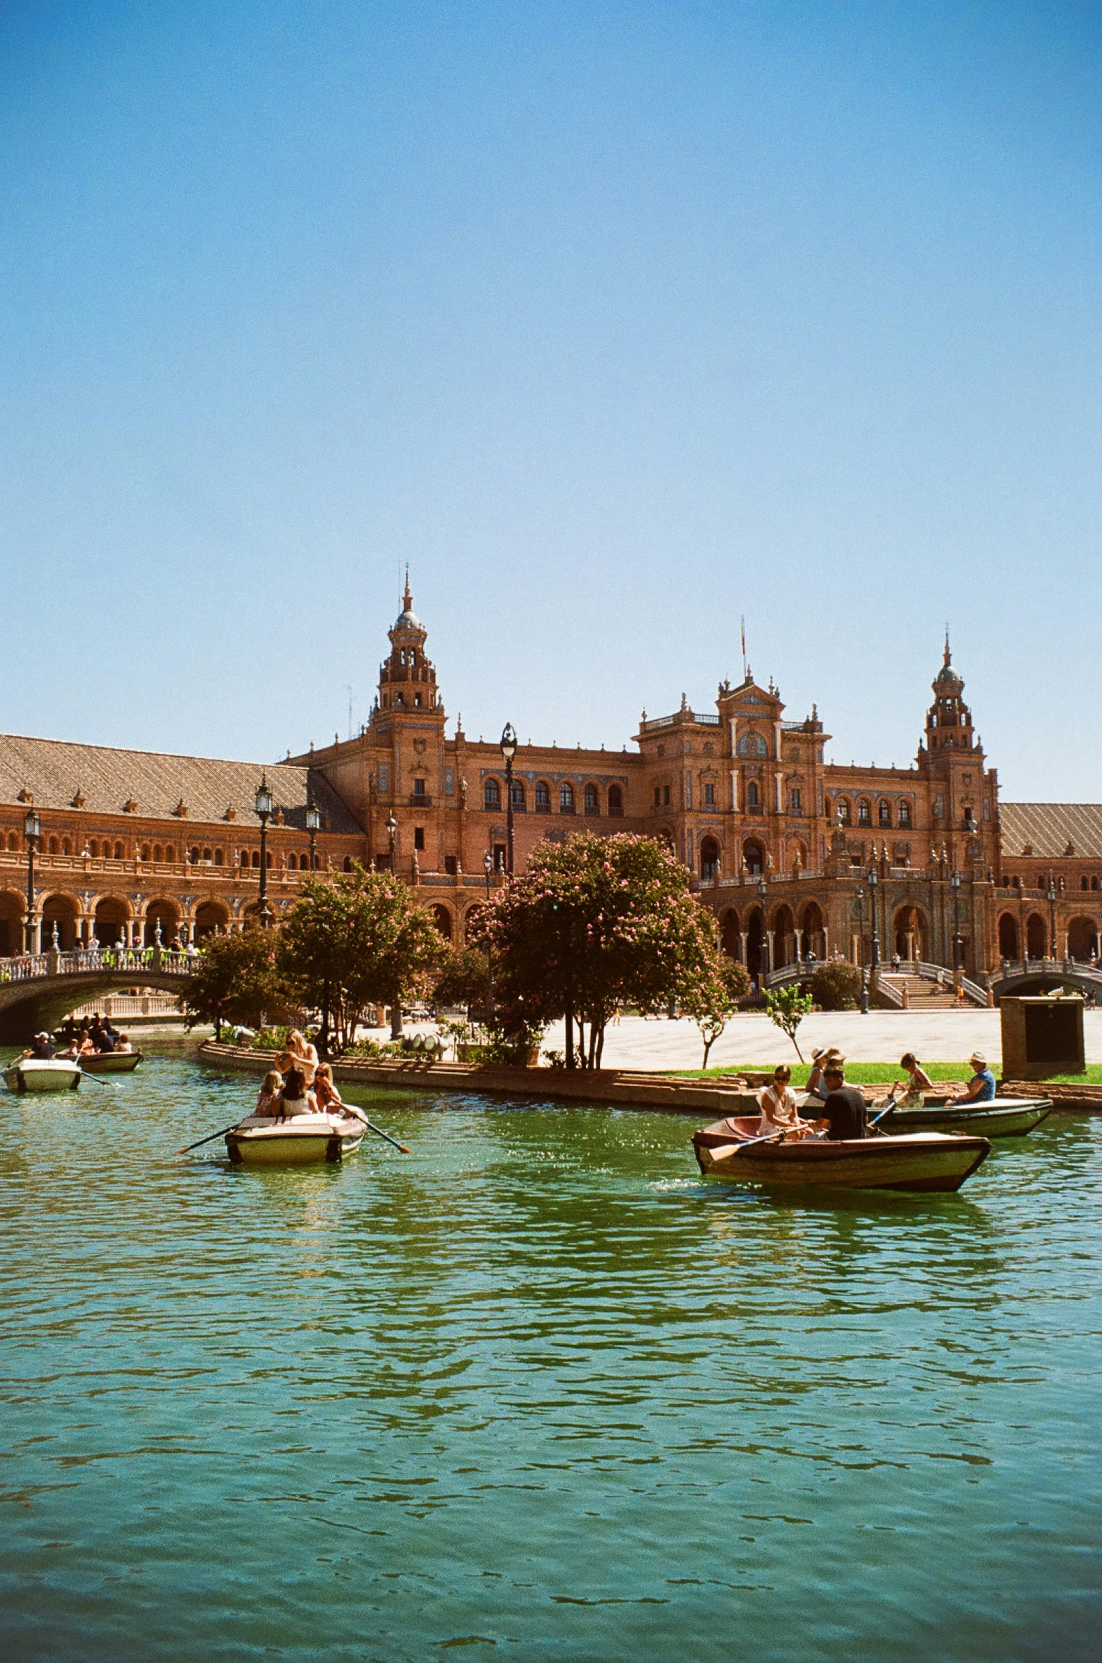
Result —
<path fill-rule="evenodd" d="M 715 936 L 660 843 L 587 832 L 540 845 L 475 928 L 490 950 L 495 1028 L 530 1039 L 565 1016 L 568 1068 L 575 1029 L 582 1068 L 600 1068 L 617 1008 L 665 1008 L 703 973 Z"/>

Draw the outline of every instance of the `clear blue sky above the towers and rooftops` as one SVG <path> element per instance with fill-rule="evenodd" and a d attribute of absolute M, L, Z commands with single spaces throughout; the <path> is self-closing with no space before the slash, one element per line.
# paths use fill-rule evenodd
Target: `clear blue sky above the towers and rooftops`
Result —
<path fill-rule="evenodd" d="M 750 662 L 1102 798 L 1102 8 L 0 8 L 0 727 L 283 755 Z"/>

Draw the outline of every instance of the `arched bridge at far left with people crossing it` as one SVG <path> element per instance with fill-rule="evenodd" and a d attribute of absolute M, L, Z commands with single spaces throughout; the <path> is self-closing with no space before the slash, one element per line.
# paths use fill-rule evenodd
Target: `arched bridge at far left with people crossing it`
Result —
<path fill-rule="evenodd" d="M 180 993 L 191 961 L 163 948 L 86 948 L 23 953 L 0 958 L 0 1044 L 22 1044 L 40 1028 L 57 1028 L 63 1016 L 125 988 Z"/>

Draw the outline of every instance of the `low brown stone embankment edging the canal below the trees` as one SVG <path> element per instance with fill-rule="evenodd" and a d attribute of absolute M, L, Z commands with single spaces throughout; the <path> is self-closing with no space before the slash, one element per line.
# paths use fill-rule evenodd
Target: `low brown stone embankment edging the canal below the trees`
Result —
<path fill-rule="evenodd" d="M 206 1039 L 199 1059 L 218 1068 L 266 1074 L 273 1051 L 216 1044 Z M 542 1098 L 560 1103 L 608 1103 L 625 1109 L 667 1114 L 756 1114 L 758 1096 L 743 1079 L 676 1079 L 637 1069 L 504 1068 L 484 1063 L 429 1063 L 419 1058 L 346 1058 L 332 1064 L 332 1078 L 349 1086 L 382 1086 L 391 1091 L 479 1091 L 505 1098 Z"/>

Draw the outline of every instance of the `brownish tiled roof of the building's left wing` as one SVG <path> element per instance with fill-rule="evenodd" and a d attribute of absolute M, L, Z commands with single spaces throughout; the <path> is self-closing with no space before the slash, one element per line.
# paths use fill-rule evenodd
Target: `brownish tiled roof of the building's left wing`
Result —
<path fill-rule="evenodd" d="M 30 792 L 35 808 L 83 808 L 93 815 L 133 813 L 189 823 L 229 823 L 256 830 L 254 795 L 268 775 L 276 808 L 291 827 L 306 830 L 306 788 L 332 832 L 361 827 L 324 775 L 312 768 L 276 762 L 221 762 L 213 757 L 171 757 L 156 750 L 115 750 L 110 745 L 70 745 L 57 738 L 20 738 L 0 733 L 0 803 L 23 807 Z M 80 798 L 83 797 L 83 802 Z M 130 810 L 125 805 L 133 803 Z M 178 813 L 180 805 L 186 808 Z"/>

